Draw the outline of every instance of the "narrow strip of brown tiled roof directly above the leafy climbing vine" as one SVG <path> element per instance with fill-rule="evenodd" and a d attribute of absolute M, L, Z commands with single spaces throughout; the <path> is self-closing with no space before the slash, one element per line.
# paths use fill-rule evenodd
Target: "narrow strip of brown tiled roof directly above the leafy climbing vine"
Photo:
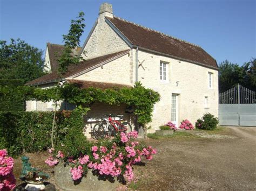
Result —
<path fill-rule="evenodd" d="M 106 83 L 106 82 L 92 82 L 92 81 L 84 81 L 84 80 L 66 80 L 68 83 L 76 84 L 79 88 L 99 88 L 99 89 L 107 89 L 107 88 L 131 88 L 132 86 L 118 83 Z"/>

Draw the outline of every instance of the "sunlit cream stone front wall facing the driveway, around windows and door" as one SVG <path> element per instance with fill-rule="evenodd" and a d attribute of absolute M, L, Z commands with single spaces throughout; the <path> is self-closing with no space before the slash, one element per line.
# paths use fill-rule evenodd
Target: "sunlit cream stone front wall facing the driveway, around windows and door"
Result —
<path fill-rule="evenodd" d="M 133 70 L 136 51 L 133 49 Z M 161 100 L 156 103 L 150 132 L 171 121 L 172 94 L 178 94 L 178 124 L 183 119 L 193 124 L 206 112 L 218 117 L 218 71 L 190 62 L 179 61 L 166 56 L 138 51 L 138 60 L 143 62 L 138 69 L 138 80 L 147 88 L 158 91 Z M 160 81 L 160 61 L 169 65 L 166 82 Z M 213 88 L 208 88 L 208 72 L 213 73 Z M 133 73 L 135 81 L 135 73 Z M 209 98 L 209 108 L 205 108 L 204 98 Z"/>

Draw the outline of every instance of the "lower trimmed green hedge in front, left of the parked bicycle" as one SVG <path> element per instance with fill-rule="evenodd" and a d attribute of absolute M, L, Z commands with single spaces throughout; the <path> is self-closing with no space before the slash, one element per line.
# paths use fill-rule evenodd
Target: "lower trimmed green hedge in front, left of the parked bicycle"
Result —
<path fill-rule="evenodd" d="M 53 112 L 0 112 L 0 149 L 10 155 L 38 152 L 51 147 Z M 79 111 L 58 111 L 55 144 L 63 142 L 72 129 L 82 133 L 83 115 Z"/>

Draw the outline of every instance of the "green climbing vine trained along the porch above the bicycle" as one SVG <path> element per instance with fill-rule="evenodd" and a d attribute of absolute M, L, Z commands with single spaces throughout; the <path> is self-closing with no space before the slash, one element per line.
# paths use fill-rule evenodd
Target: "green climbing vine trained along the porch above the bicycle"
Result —
<path fill-rule="evenodd" d="M 134 87 L 121 89 L 80 89 L 76 84 L 64 84 L 61 87 L 49 89 L 29 88 L 26 95 L 27 100 L 48 102 L 66 101 L 75 104 L 79 110 L 88 110 L 95 102 L 107 103 L 110 105 L 126 104 L 134 108 L 134 115 L 138 116 L 138 123 L 145 125 L 152 121 L 154 104 L 160 100 L 160 95 L 152 89 L 145 88 L 140 82 Z M 56 91 L 58 95 L 56 96 Z"/>

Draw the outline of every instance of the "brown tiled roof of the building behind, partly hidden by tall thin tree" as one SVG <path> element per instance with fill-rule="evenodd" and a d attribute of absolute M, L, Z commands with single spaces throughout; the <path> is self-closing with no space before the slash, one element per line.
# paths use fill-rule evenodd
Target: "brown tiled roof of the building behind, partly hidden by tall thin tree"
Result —
<path fill-rule="evenodd" d="M 51 72 L 54 72 L 58 69 L 58 58 L 62 54 L 64 50 L 64 45 L 57 45 L 57 44 L 51 44 L 47 43 L 48 52 L 49 52 L 49 58 L 50 58 L 50 64 L 51 64 Z M 81 47 L 77 47 L 76 52 L 80 52 Z"/>

